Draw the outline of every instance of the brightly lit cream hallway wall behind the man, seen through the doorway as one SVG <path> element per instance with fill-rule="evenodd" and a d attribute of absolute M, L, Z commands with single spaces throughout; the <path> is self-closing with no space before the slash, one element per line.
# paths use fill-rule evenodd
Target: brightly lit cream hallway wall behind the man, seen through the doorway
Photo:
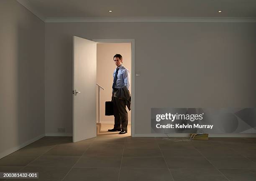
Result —
<path fill-rule="evenodd" d="M 105 90 L 100 91 L 101 123 L 115 123 L 114 116 L 105 116 L 105 102 L 111 101 L 113 73 L 116 68 L 113 57 L 117 53 L 122 55 L 123 66 L 128 68 L 131 74 L 131 43 L 97 43 L 97 83 L 105 88 Z M 131 93 L 131 81 L 129 91 Z M 128 112 L 128 123 L 131 123 L 131 111 L 128 108 L 126 110 Z"/>

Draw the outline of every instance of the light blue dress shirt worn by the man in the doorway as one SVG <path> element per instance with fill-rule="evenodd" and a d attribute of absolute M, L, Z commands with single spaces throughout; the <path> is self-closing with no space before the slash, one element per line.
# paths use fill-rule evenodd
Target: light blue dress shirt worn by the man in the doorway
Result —
<path fill-rule="evenodd" d="M 119 70 L 118 70 L 117 80 L 116 80 L 116 83 L 115 83 L 115 88 L 121 88 L 125 85 L 126 88 L 129 90 L 129 87 L 130 87 L 130 72 L 123 65 L 120 65 L 120 67 L 118 67 L 118 68 L 119 68 Z M 113 78 L 115 78 L 115 72 L 116 72 L 116 69 L 113 73 Z"/>

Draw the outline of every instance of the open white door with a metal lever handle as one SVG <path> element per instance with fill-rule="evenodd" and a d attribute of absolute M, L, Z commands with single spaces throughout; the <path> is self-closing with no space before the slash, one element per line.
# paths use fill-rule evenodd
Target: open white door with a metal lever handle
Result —
<path fill-rule="evenodd" d="M 97 44 L 73 36 L 73 142 L 97 136 Z"/>

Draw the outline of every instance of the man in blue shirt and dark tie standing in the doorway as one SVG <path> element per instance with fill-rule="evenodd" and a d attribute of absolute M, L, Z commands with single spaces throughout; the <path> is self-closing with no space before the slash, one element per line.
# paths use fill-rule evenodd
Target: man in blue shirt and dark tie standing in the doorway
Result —
<path fill-rule="evenodd" d="M 127 101 L 124 99 L 118 98 L 117 92 L 122 90 L 129 90 L 130 86 L 130 73 L 127 68 L 123 66 L 123 57 L 120 54 L 114 56 L 115 65 L 117 68 L 114 71 L 113 77 L 113 91 L 112 91 L 112 101 L 114 108 L 114 117 L 115 125 L 113 129 L 108 131 L 120 131 L 119 134 L 127 133 L 127 124 L 128 124 L 128 113 L 126 111 Z M 123 89 L 125 88 L 125 89 Z M 127 88 L 127 89 L 126 89 Z"/>

